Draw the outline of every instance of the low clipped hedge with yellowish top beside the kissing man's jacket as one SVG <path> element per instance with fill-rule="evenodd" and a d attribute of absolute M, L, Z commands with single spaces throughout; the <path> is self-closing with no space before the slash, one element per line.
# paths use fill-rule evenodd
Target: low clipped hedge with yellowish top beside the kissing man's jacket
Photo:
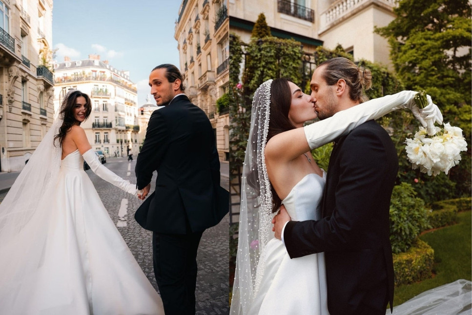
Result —
<path fill-rule="evenodd" d="M 430 278 L 433 263 L 434 250 L 426 242 L 416 239 L 407 252 L 393 254 L 395 287 Z"/>

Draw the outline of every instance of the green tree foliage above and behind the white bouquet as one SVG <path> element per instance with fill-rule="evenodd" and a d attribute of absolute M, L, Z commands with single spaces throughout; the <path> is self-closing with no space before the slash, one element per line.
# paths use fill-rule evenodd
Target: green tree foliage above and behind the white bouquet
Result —
<path fill-rule="evenodd" d="M 468 151 L 462 155 L 459 166 L 439 181 L 457 183 L 455 197 L 470 195 L 471 3 L 468 0 L 401 0 L 394 13 L 397 18 L 376 31 L 389 40 L 392 63 L 405 87 L 426 90 L 441 109 L 444 121 L 464 131 Z M 438 180 L 416 175 L 425 183 Z M 433 197 L 442 198 L 437 194 Z"/>

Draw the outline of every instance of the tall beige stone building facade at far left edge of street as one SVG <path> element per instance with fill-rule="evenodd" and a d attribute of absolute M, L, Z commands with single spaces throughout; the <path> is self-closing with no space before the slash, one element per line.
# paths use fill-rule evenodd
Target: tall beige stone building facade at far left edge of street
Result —
<path fill-rule="evenodd" d="M 0 169 L 20 171 L 54 121 L 52 0 L 0 0 Z"/>

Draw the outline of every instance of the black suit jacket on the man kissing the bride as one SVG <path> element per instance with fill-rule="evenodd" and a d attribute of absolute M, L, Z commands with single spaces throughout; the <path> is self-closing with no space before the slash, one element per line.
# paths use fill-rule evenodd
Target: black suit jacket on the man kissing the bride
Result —
<path fill-rule="evenodd" d="M 389 215 L 397 171 L 388 133 L 374 121 L 358 126 L 331 153 L 322 219 L 285 228 L 291 258 L 325 252 L 331 315 L 360 314 L 358 305 L 379 286 L 386 289 L 382 283 L 393 305 Z"/>

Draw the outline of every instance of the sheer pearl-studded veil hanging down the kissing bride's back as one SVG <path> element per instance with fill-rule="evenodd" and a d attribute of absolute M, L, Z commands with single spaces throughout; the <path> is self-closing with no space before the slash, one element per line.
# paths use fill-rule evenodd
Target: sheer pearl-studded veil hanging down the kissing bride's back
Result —
<path fill-rule="evenodd" d="M 264 151 L 270 115 L 270 86 L 261 84 L 254 94 L 241 185 L 238 255 L 231 314 L 247 314 L 264 274 L 267 242 L 273 238 L 272 193 Z"/>

